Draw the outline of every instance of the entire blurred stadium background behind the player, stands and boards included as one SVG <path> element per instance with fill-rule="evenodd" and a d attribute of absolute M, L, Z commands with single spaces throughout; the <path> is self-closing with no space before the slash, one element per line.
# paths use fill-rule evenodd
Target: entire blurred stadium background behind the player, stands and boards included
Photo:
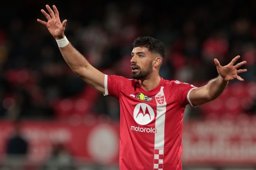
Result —
<path fill-rule="evenodd" d="M 213 102 L 184 114 L 184 170 L 256 169 L 256 1 L 6 1 L 0 24 L 0 169 L 118 170 L 119 105 L 77 77 L 37 23 L 55 4 L 93 66 L 130 78 L 137 36 L 162 40 L 165 79 L 201 86 L 246 60 Z M 22 142 L 21 136 L 25 142 Z M 10 140 L 11 138 L 11 140 Z"/>

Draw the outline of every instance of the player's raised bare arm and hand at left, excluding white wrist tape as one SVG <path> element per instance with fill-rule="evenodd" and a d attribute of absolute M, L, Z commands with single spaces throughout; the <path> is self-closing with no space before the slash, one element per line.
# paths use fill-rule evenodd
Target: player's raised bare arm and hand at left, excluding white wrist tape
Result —
<path fill-rule="evenodd" d="M 48 20 L 42 21 L 41 19 L 37 19 L 37 21 L 43 25 L 45 25 L 50 34 L 56 39 L 64 38 L 64 30 L 67 20 L 65 19 L 62 23 L 59 18 L 59 12 L 55 5 L 53 5 L 53 10 L 50 8 L 49 5 L 46 5 L 46 8 L 49 12 L 46 13 L 43 9 L 41 12 Z M 68 43 L 65 47 L 59 47 L 61 54 L 64 60 L 67 62 L 69 67 L 79 76 L 81 77 L 86 83 L 93 86 L 96 90 L 100 91 L 101 93 L 105 93 L 104 89 L 104 77 L 105 75 L 91 66 L 89 62 L 85 59 L 85 57 L 79 53 L 71 43 Z"/>

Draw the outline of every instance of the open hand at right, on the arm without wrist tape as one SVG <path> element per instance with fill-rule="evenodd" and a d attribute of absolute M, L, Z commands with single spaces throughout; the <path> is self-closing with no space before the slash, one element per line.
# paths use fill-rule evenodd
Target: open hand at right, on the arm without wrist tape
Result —
<path fill-rule="evenodd" d="M 239 75 L 237 75 L 238 73 L 242 73 L 242 72 L 246 72 L 247 69 L 240 69 L 237 70 L 237 68 L 243 66 L 244 64 L 246 64 L 246 61 L 240 62 L 236 65 L 234 65 L 236 63 L 236 61 L 240 58 L 239 55 L 237 55 L 236 57 L 234 57 L 234 59 L 226 66 L 221 66 L 219 64 L 219 61 L 215 58 L 214 62 L 217 66 L 217 71 L 219 73 L 219 75 L 225 80 L 225 81 L 230 81 L 233 79 L 238 79 L 240 81 L 244 81 Z"/>

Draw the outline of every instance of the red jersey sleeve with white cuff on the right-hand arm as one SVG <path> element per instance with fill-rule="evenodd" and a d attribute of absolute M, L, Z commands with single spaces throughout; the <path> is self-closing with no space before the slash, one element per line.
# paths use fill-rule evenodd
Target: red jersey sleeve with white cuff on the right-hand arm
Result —
<path fill-rule="evenodd" d="M 178 97 L 180 104 L 182 106 L 186 106 L 187 104 L 190 104 L 191 106 L 193 106 L 193 104 L 191 103 L 191 101 L 189 99 L 189 94 L 193 89 L 195 89 L 197 87 L 194 85 L 191 85 L 189 83 L 183 83 L 178 80 L 174 81 L 173 83 L 175 83 L 176 96 Z M 193 107 L 195 107 L 195 106 L 193 106 Z"/>

